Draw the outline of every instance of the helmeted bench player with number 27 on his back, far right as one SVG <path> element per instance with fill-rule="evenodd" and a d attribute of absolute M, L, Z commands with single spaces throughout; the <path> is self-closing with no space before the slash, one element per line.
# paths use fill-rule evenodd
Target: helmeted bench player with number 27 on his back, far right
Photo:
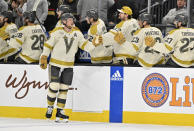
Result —
<path fill-rule="evenodd" d="M 194 29 L 187 28 L 188 17 L 178 14 L 171 30 L 165 37 L 165 48 L 157 48 L 164 54 L 170 54 L 166 65 L 173 67 L 191 67 L 194 60 Z M 163 49 L 163 50 L 162 50 Z"/>

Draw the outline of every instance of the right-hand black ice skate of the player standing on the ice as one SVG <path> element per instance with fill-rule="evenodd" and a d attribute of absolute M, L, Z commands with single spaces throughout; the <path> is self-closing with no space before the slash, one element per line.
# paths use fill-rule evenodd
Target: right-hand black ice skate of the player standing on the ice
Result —
<path fill-rule="evenodd" d="M 63 109 L 57 109 L 55 122 L 65 122 L 67 123 L 69 116 L 65 115 Z"/>

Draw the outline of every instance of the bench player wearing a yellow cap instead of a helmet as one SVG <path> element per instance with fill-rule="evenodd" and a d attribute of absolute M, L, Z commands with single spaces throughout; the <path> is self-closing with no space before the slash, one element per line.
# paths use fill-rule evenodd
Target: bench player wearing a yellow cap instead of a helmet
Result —
<path fill-rule="evenodd" d="M 132 18 L 133 13 L 130 7 L 123 6 L 118 11 L 121 22 L 114 29 L 102 35 L 103 45 L 113 46 L 115 55 L 113 63 L 131 64 L 135 58 L 129 55 L 128 44 L 125 41 L 132 40 L 134 32 L 139 29 L 139 24 L 136 19 Z"/>

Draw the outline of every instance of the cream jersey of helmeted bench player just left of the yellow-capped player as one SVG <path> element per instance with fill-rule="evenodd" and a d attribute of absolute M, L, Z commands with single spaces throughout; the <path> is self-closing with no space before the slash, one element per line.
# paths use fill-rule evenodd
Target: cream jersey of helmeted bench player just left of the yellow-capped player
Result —
<path fill-rule="evenodd" d="M 94 37 L 106 33 L 106 26 L 101 19 L 98 19 L 97 24 L 91 25 L 88 30 L 88 40 L 92 42 Z M 90 53 L 92 63 L 111 63 L 113 47 L 99 45 Z"/>

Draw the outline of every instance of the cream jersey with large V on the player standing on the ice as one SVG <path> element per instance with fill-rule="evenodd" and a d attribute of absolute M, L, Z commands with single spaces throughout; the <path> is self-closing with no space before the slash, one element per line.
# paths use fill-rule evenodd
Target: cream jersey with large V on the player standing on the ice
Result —
<path fill-rule="evenodd" d="M 90 53 L 95 46 L 84 39 L 80 30 L 73 28 L 71 32 L 66 32 L 61 27 L 55 29 L 50 39 L 44 43 L 42 55 L 49 56 L 51 53 L 50 64 L 53 66 L 73 67 L 78 48 Z"/>

